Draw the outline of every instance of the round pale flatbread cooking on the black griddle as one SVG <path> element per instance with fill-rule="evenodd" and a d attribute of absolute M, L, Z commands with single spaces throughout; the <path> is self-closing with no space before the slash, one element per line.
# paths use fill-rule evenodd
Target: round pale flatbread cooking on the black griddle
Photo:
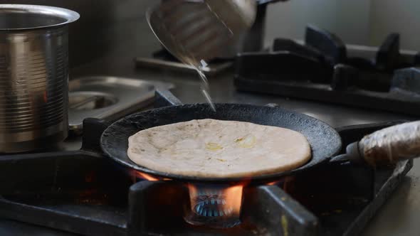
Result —
<path fill-rule="evenodd" d="M 128 139 L 139 166 L 181 176 L 252 177 L 289 171 L 310 160 L 310 144 L 290 129 L 199 119 L 145 129 Z"/>

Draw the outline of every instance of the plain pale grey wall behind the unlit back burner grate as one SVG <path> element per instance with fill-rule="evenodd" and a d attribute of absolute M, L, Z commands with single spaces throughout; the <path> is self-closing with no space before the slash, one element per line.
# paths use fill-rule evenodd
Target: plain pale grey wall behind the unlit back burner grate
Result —
<path fill-rule="evenodd" d="M 379 45 L 401 33 L 401 48 L 420 50 L 420 0 L 290 0 L 268 9 L 266 41 L 303 39 L 305 26 L 326 28 L 345 43 Z"/>

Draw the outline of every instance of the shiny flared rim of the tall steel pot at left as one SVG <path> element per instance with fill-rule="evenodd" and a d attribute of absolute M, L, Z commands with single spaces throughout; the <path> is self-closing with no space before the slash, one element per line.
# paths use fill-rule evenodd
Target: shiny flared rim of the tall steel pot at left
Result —
<path fill-rule="evenodd" d="M 0 31 L 22 31 L 31 30 L 38 28 L 52 28 L 57 26 L 63 26 L 68 23 L 77 21 L 80 15 L 69 9 L 64 9 L 56 6 L 43 6 L 43 5 L 30 5 L 30 4 L 0 4 L 0 14 L 4 12 L 16 13 L 16 14 L 38 14 L 39 16 L 56 16 L 62 18 L 63 22 L 52 23 L 41 26 L 33 27 L 20 27 L 20 28 L 0 28 Z"/>

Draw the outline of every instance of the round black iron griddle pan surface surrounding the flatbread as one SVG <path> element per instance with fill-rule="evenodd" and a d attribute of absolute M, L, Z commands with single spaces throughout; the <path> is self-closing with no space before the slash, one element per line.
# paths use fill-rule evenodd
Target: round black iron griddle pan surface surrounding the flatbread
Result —
<path fill-rule="evenodd" d="M 171 178 L 189 182 L 243 182 L 243 178 L 202 178 L 196 176 L 180 176 L 172 173 L 153 171 L 138 166 L 127 156 L 128 138 L 142 129 L 157 127 L 192 119 L 221 119 L 255 124 L 270 125 L 292 129 L 305 135 L 312 149 L 312 159 L 304 166 L 292 171 L 254 176 L 248 181 L 261 183 L 280 178 L 290 173 L 303 171 L 319 163 L 329 161 L 341 149 L 339 134 L 329 125 L 305 114 L 290 112 L 279 107 L 263 107 L 250 104 L 216 104 L 217 112 L 213 112 L 208 104 L 184 104 L 180 106 L 162 107 L 147 112 L 132 114 L 110 125 L 103 132 L 100 145 L 111 159 L 128 168 L 147 173 L 152 176 Z"/>

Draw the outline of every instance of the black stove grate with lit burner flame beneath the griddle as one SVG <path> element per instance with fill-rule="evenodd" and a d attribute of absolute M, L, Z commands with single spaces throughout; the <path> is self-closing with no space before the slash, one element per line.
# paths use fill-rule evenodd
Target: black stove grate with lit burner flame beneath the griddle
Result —
<path fill-rule="evenodd" d="M 157 90 L 154 107 L 177 103 Z M 396 123 L 337 131 L 347 146 Z M 331 162 L 266 186 L 191 186 L 105 158 L 108 124 L 85 119 L 78 151 L 1 156 L 1 218 L 83 235 L 357 235 L 413 164 Z"/>

